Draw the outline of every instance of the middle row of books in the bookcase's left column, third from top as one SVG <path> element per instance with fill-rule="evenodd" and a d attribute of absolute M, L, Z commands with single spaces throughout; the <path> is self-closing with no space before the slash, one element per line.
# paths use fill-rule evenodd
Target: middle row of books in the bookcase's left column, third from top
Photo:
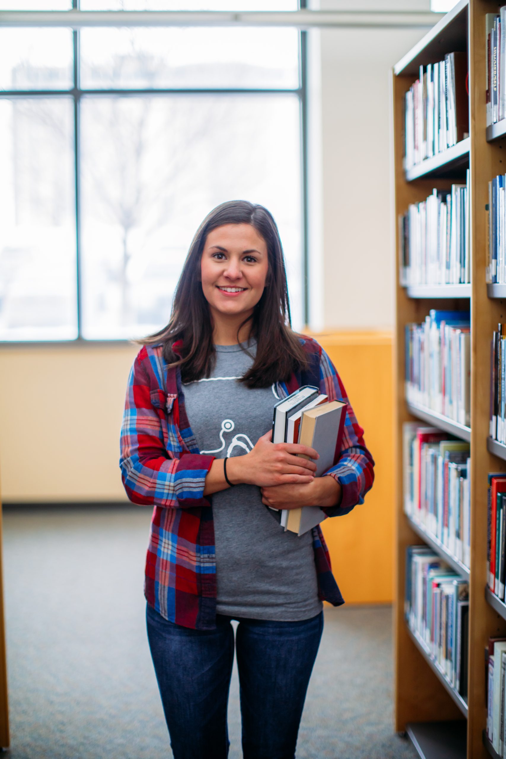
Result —
<path fill-rule="evenodd" d="M 432 309 L 423 324 L 408 323 L 406 398 L 470 424 L 470 313 Z"/>

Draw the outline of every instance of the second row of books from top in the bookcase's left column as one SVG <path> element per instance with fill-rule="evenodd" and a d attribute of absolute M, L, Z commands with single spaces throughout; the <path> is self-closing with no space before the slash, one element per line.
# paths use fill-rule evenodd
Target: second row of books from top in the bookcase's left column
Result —
<path fill-rule="evenodd" d="M 470 282 L 469 201 L 466 184 L 433 190 L 399 219 L 401 285 Z"/>

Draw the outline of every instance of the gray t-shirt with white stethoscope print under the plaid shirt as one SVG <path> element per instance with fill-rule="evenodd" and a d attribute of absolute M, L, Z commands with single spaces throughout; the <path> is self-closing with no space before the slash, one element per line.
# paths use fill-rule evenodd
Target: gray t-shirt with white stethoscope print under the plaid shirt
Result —
<path fill-rule="evenodd" d="M 183 386 L 188 420 L 201 453 L 244 455 L 271 429 L 278 396 L 275 386 L 251 389 L 237 381 L 253 363 L 240 345 L 215 349 L 212 376 Z M 322 610 L 311 531 L 284 532 L 279 512 L 262 503 L 255 485 L 214 493 L 212 515 L 218 614 L 296 621 Z"/>

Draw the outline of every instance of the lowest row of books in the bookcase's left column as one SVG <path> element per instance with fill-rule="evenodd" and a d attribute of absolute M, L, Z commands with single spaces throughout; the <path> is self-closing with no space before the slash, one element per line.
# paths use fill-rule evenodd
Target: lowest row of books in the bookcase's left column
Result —
<path fill-rule="evenodd" d="M 469 584 L 428 546 L 407 547 L 404 613 L 429 658 L 465 698 Z"/>

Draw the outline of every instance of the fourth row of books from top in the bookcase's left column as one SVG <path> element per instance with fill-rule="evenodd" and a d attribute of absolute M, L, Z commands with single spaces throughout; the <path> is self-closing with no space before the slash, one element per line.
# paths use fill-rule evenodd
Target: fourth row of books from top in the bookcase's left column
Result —
<path fill-rule="evenodd" d="M 403 425 L 404 512 L 470 566 L 470 446 L 436 427 Z"/>

